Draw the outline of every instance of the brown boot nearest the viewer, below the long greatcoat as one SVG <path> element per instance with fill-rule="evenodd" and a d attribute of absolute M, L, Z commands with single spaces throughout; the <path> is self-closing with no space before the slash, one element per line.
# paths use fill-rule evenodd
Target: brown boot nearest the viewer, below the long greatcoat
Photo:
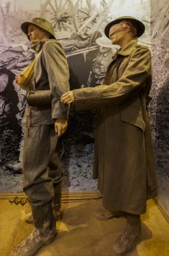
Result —
<path fill-rule="evenodd" d="M 137 221 L 137 223 L 132 224 L 129 223 L 128 220 L 124 231 L 114 243 L 113 249 L 117 255 L 127 255 L 129 252 L 135 249 L 136 244 L 138 243 L 141 233 L 141 221 Z"/>

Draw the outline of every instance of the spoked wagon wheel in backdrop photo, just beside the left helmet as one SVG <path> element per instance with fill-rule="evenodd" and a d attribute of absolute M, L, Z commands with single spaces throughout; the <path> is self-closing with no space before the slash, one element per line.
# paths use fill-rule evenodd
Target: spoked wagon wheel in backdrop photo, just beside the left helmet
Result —
<path fill-rule="evenodd" d="M 46 0 L 41 4 L 41 16 L 52 22 L 55 31 L 75 31 L 72 25 L 73 0 Z"/>

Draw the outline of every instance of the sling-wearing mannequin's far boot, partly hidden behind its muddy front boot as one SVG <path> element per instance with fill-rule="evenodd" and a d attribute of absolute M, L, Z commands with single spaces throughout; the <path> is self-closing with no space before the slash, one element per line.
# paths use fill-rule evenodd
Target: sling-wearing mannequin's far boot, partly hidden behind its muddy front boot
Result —
<path fill-rule="evenodd" d="M 61 218 L 61 182 L 59 182 L 59 184 L 55 185 L 54 199 L 53 199 L 52 204 L 53 204 L 53 209 L 54 209 L 55 220 L 59 220 L 59 218 Z M 29 212 L 26 215 L 25 221 L 28 224 L 34 223 L 32 212 Z"/>

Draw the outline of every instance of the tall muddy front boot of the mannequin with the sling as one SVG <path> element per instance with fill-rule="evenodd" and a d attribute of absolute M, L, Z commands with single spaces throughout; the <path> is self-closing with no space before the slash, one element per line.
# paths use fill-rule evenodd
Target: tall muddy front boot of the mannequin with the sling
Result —
<path fill-rule="evenodd" d="M 52 204 L 32 207 L 35 229 L 25 241 L 13 249 L 10 256 L 33 256 L 42 246 L 50 244 L 56 236 Z"/>

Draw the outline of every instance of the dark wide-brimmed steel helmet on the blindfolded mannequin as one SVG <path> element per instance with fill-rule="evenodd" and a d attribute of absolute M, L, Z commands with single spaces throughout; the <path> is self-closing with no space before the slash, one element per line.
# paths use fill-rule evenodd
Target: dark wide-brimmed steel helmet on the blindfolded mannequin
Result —
<path fill-rule="evenodd" d="M 130 16 L 122 16 L 119 17 L 113 21 L 111 21 L 110 23 L 107 24 L 107 26 L 105 27 L 105 35 L 109 38 L 109 30 L 110 28 L 115 25 L 118 24 L 119 22 L 121 22 L 122 20 L 126 20 L 126 21 L 131 21 L 131 23 L 133 24 L 133 26 L 136 28 L 137 34 L 136 36 L 139 37 L 141 35 L 143 35 L 144 31 L 145 31 L 145 26 L 144 24 L 140 21 L 135 19 L 134 17 L 130 17 Z"/>

